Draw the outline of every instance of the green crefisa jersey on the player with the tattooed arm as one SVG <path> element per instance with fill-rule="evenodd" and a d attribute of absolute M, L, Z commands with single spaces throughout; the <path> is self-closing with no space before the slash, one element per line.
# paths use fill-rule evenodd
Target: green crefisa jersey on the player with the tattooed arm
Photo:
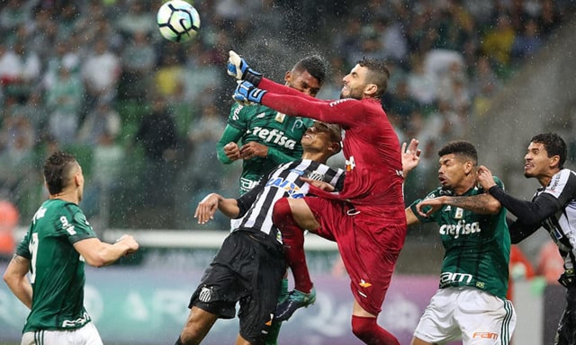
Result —
<path fill-rule="evenodd" d="M 494 181 L 502 186 L 498 178 Z M 469 189 L 462 196 L 482 194 L 480 187 Z M 449 190 L 438 188 L 426 196 L 435 198 L 452 196 Z M 473 286 L 506 298 L 508 289 L 508 263 L 510 261 L 510 233 L 506 224 L 506 209 L 497 214 L 478 214 L 470 210 L 444 205 L 429 217 L 422 217 L 416 211 L 416 204 L 410 205 L 412 212 L 422 223 L 437 223 L 442 245 L 445 249 L 440 274 L 440 288 L 448 286 Z"/>

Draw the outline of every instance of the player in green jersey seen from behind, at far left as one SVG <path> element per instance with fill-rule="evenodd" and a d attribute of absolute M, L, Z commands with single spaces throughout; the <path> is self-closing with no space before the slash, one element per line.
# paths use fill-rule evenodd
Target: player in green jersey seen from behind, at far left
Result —
<path fill-rule="evenodd" d="M 97 239 L 78 207 L 84 175 L 74 156 L 55 152 L 43 170 L 50 197 L 32 217 L 3 277 L 31 309 L 21 344 L 99 345 L 100 335 L 84 308 L 84 263 L 111 264 L 137 251 L 138 243 L 129 235 L 115 244 Z"/>

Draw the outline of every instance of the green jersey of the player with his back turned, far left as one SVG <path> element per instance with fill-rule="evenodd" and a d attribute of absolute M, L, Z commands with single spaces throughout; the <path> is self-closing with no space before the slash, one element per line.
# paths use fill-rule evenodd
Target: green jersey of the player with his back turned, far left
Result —
<path fill-rule="evenodd" d="M 24 332 L 71 329 L 90 321 L 84 309 L 84 258 L 77 241 L 96 237 L 84 212 L 71 202 L 45 201 L 16 249 L 28 258 L 32 309 Z"/>

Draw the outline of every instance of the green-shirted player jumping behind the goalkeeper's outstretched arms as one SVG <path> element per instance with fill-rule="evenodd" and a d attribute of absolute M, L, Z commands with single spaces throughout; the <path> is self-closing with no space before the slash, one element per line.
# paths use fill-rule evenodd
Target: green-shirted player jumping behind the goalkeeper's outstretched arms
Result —
<path fill-rule="evenodd" d="M 286 72 L 284 80 L 287 86 L 315 96 L 325 75 L 324 59 L 313 55 L 298 61 Z M 217 153 L 224 164 L 243 160 L 240 194 L 251 190 L 272 168 L 300 159 L 303 152 L 300 139 L 312 122 L 308 118 L 286 116 L 263 105 L 235 103 L 218 141 Z"/>

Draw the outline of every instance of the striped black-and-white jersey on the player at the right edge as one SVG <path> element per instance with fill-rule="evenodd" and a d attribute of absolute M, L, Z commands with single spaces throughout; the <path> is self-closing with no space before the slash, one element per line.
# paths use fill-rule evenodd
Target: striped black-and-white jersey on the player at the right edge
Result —
<path fill-rule="evenodd" d="M 556 212 L 542 221 L 542 226 L 550 233 L 552 240 L 558 244 L 564 258 L 564 269 L 574 274 L 576 266 L 576 173 L 562 169 L 552 176 L 546 187 L 541 187 L 532 198 L 546 196 L 554 200 Z"/>

